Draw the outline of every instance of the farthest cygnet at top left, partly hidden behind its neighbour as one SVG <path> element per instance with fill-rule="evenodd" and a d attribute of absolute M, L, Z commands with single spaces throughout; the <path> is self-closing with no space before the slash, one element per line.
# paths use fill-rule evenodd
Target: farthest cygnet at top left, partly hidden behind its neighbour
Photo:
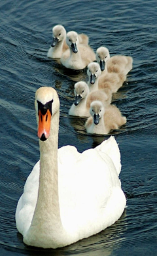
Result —
<path fill-rule="evenodd" d="M 56 25 L 52 28 L 52 45 L 48 50 L 47 56 L 48 58 L 60 58 L 61 55 L 69 49 L 68 45 L 66 44 L 66 30 L 62 25 Z M 88 45 L 88 36 L 84 33 L 78 35 L 80 43 L 84 43 Z"/>

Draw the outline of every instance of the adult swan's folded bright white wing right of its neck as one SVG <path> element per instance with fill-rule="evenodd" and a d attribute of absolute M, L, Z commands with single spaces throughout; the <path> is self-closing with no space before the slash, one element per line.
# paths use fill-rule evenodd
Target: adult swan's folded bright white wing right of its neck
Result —
<path fill-rule="evenodd" d="M 82 229 L 89 227 L 89 223 L 94 225 L 94 221 L 114 211 L 115 194 L 122 192 L 113 160 L 105 152 L 89 149 L 78 154 L 75 161 L 67 161 L 66 167 L 61 163 L 58 167 L 60 213 L 65 228 L 73 230 L 76 223 Z"/>

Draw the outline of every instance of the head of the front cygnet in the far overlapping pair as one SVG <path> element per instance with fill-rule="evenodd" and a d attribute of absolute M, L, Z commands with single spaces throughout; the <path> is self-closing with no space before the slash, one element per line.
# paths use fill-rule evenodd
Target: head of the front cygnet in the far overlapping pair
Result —
<path fill-rule="evenodd" d="M 67 33 L 66 37 L 66 43 L 69 46 L 69 48 L 73 51 L 73 53 L 77 53 L 77 45 L 79 43 L 79 37 L 77 32 L 75 31 L 70 31 Z"/>

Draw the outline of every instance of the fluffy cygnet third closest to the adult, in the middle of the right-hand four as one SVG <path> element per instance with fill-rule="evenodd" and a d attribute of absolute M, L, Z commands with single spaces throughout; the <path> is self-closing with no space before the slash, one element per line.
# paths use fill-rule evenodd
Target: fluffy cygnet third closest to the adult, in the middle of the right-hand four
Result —
<path fill-rule="evenodd" d="M 108 73 L 101 75 L 101 69 L 97 62 L 88 64 L 88 86 L 90 91 L 101 89 L 105 93 L 116 93 L 126 79 L 124 74 Z"/>

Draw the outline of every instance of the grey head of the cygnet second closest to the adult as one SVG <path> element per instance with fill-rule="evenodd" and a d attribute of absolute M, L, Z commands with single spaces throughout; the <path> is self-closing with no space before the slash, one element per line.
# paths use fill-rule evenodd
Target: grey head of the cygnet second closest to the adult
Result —
<path fill-rule="evenodd" d="M 75 106 L 79 105 L 80 100 L 82 100 L 82 98 L 86 98 L 86 96 L 89 93 L 89 87 L 87 85 L 87 83 L 85 83 L 84 81 L 79 81 L 77 83 L 75 83 L 74 85 L 74 93 L 75 93 Z"/>

